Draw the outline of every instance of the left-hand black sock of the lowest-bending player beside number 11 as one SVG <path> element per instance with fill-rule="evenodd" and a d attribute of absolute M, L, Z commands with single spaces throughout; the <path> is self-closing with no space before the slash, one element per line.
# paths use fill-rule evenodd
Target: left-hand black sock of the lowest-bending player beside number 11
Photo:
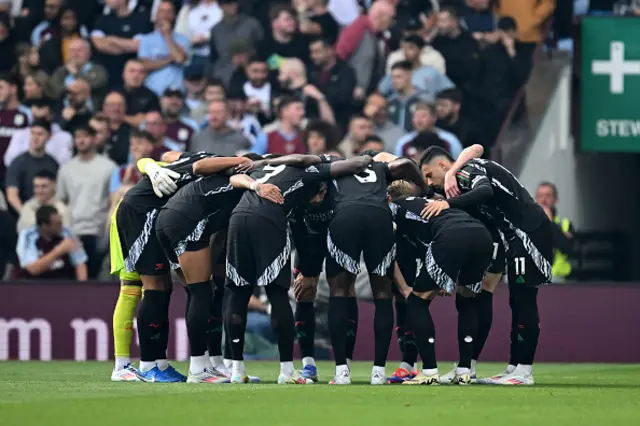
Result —
<path fill-rule="evenodd" d="M 431 300 L 421 299 L 415 294 L 407 298 L 407 314 L 415 333 L 415 343 L 422 358 L 423 369 L 438 368 L 436 363 L 436 329 L 429 307 Z"/>

